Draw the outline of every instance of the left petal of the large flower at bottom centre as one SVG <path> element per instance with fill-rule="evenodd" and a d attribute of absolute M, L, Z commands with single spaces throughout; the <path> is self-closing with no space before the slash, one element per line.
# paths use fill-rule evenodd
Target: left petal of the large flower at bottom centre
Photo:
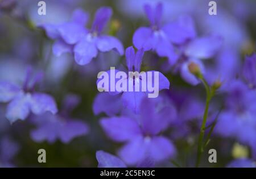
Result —
<path fill-rule="evenodd" d="M 126 117 L 103 118 L 100 120 L 100 124 L 106 135 L 114 141 L 133 140 L 135 136 L 141 134 L 135 119 Z"/>

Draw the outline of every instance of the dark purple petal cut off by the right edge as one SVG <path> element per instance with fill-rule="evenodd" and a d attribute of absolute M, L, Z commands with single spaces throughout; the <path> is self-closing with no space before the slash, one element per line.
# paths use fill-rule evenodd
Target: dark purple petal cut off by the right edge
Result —
<path fill-rule="evenodd" d="M 246 56 L 242 74 L 249 86 L 256 88 L 256 53 Z"/>

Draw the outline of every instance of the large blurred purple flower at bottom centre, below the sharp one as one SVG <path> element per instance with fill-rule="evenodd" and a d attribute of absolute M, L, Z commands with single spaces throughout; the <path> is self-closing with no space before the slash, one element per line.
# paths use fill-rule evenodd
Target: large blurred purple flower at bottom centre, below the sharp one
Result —
<path fill-rule="evenodd" d="M 140 110 L 138 120 L 127 116 L 100 120 L 109 138 L 126 142 L 118 152 L 121 159 L 126 164 L 134 165 L 145 159 L 160 162 L 173 157 L 176 152 L 174 145 L 168 138 L 159 135 L 170 124 L 170 107 L 157 111 L 155 103 L 144 98 Z"/>

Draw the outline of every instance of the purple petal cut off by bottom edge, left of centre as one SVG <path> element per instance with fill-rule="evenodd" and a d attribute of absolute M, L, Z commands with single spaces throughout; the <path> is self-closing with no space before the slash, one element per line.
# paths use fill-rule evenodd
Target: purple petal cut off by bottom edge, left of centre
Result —
<path fill-rule="evenodd" d="M 108 152 L 97 151 L 96 159 L 98 168 L 126 168 L 126 164 L 121 159 Z"/>

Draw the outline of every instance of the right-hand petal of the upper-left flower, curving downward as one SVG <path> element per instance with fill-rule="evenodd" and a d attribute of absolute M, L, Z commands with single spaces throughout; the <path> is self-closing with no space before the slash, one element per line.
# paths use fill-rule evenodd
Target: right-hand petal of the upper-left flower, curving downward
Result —
<path fill-rule="evenodd" d="M 113 36 L 99 36 L 96 40 L 96 46 L 101 52 L 109 52 L 115 49 L 119 55 L 123 55 L 123 45 L 121 41 Z"/>

